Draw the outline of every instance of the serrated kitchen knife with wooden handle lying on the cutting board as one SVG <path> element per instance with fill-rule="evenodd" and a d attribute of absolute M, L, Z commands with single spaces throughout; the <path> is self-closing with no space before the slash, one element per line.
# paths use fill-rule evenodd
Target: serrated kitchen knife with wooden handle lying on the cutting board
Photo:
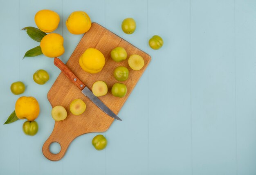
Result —
<path fill-rule="evenodd" d="M 82 93 L 90 99 L 95 105 L 97 105 L 98 108 L 100 108 L 103 112 L 108 114 L 110 117 L 113 117 L 114 119 L 122 121 L 114 112 L 112 112 L 100 99 L 98 99 L 97 96 L 95 96 L 92 91 L 87 88 L 81 80 L 77 78 L 71 72 L 71 70 L 59 59 L 59 58 L 54 58 L 54 65 L 56 65 L 61 72 L 67 76 L 70 81 L 72 81 L 80 90 L 82 90 Z"/>

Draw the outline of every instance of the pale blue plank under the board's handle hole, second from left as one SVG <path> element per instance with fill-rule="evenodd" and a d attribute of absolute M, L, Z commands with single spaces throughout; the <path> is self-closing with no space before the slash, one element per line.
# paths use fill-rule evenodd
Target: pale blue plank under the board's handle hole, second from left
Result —
<path fill-rule="evenodd" d="M 63 16 L 62 9 L 60 8 L 62 6 L 62 0 L 45 0 L 44 3 L 31 0 L 22 0 L 19 2 L 20 20 L 17 30 L 19 30 L 20 50 L 18 58 L 20 58 L 20 80 L 26 84 L 26 90 L 20 96 L 34 96 L 40 105 L 40 114 L 36 119 L 36 122 L 38 123 L 38 133 L 33 137 L 34 139 L 27 137 L 27 135 L 25 135 L 22 131 L 22 124 L 25 122 L 25 120 L 19 121 L 20 144 L 16 145 L 16 148 L 19 148 L 20 150 L 20 157 L 24 157 L 24 159 L 19 159 L 20 175 L 29 174 L 30 172 L 37 172 L 38 175 L 57 175 L 62 173 L 63 169 L 63 161 L 52 164 L 48 159 L 41 159 L 41 157 L 44 157 L 42 153 L 43 143 L 49 137 L 52 129 L 54 128 L 54 121 L 51 117 L 52 106 L 47 99 L 47 92 L 52 87 L 52 84 L 60 71 L 53 64 L 53 59 L 47 58 L 44 55 L 22 59 L 27 50 L 38 46 L 39 43 L 32 40 L 26 32 L 20 31 L 20 29 L 27 26 L 36 27 L 34 15 L 41 9 L 49 9 L 49 3 L 51 4 L 51 10 L 54 10 L 60 16 Z M 56 29 L 54 32 L 62 35 L 62 31 L 63 25 L 60 22 L 58 29 Z M 60 56 L 60 58 L 63 59 L 63 56 Z M 38 85 L 32 79 L 34 72 L 39 69 L 46 70 L 50 76 L 49 81 L 47 81 L 47 83 L 44 85 Z M 33 158 L 31 158 L 31 156 Z M 38 171 L 38 169 L 40 169 L 40 171 Z"/>

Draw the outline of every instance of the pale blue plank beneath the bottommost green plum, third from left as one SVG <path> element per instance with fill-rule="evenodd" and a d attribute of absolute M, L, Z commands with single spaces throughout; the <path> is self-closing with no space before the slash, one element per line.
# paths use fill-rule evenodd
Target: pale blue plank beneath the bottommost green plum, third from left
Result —
<path fill-rule="evenodd" d="M 78 4 L 81 7 L 81 9 L 77 8 Z M 97 22 L 102 26 L 104 26 L 105 24 L 105 15 L 104 15 L 105 0 L 93 0 L 93 1 L 85 0 L 83 2 L 81 2 L 81 0 L 73 0 L 72 2 L 70 0 L 63 0 L 63 11 L 65 11 L 65 13 L 63 13 L 63 20 L 64 20 L 63 37 L 65 38 L 65 41 L 64 41 L 65 53 L 63 56 L 64 63 L 67 63 L 68 59 L 74 52 L 74 49 L 76 48 L 77 44 L 83 37 L 83 34 L 81 35 L 71 34 L 67 30 L 67 27 L 65 27 L 65 20 L 68 18 L 70 13 L 76 10 L 86 11 L 86 13 L 90 15 L 92 22 Z M 79 175 L 83 173 L 87 173 L 91 175 L 99 175 L 99 174 L 105 173 L 106 149 L 101 151 L 90 151 L 91 149 L 94 149 L 94 147 L 91 144 L 91 141 L 93 137 L 96 136 L 97 134 L 102 134 L 106 136 L 106 132 L 88 133 L 86 135 L 77 137 L 72 141 L 72 143 L 68 148 L 68 151 L 65 154 L 65 157 L 63 157 L 63 175 L 70 175 L 70 174 Z M 77 151 L 77 150 L 80 150 L 80 151 Z M 58 162 L 61 162 L 61 161 L 58 161 Z M 81 166 L 81 165 L 88 165 L 88 166 Z M 97 171 L 95 171 L 96 169 Z"/>

